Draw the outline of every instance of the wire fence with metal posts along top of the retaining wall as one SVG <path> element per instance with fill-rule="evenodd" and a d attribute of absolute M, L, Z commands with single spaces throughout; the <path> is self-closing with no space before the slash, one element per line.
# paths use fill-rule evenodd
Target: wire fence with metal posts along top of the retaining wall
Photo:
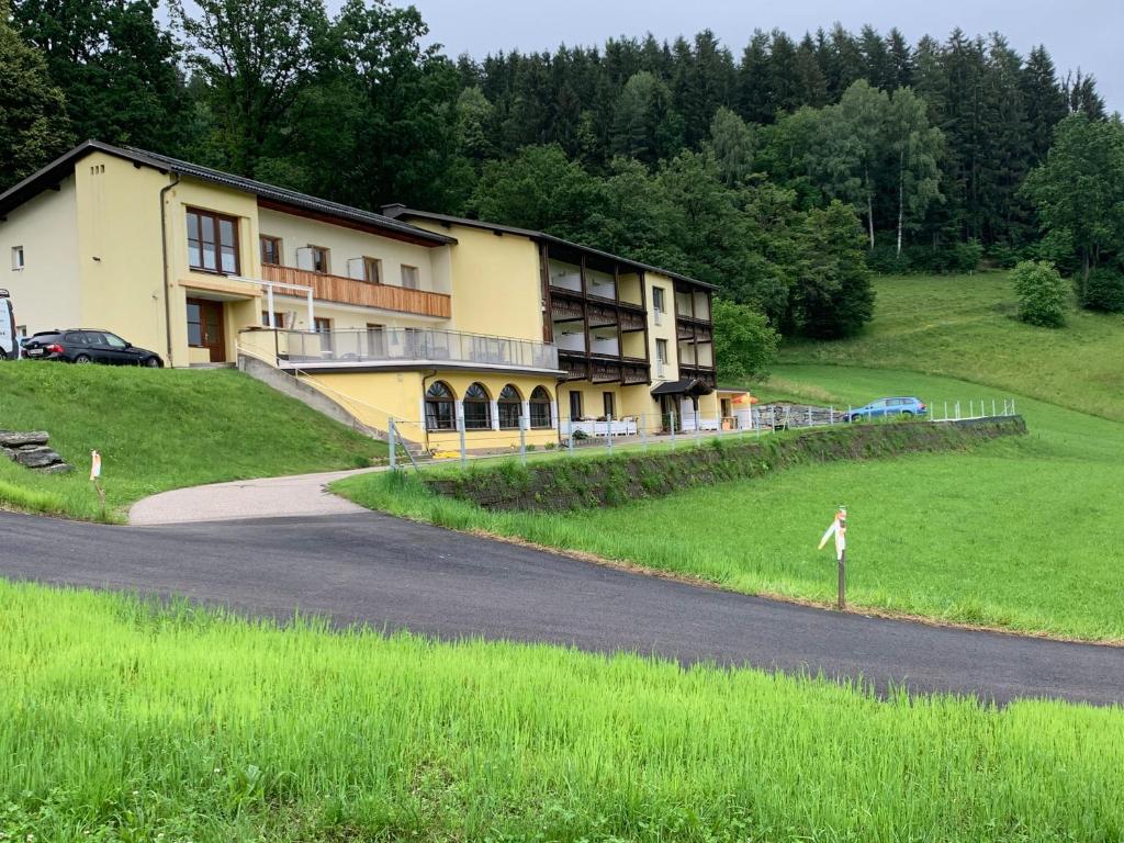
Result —
<path fill-rule="evenodd" d="M 901 399 L 890 399 L 901 400 Z M 524 407 L 525 409 L 525 407 Z M 513 406 L 489 413 L 488 408 L 416 419 L 390 418 L 390 468 L 510 459 L 523 464 L 533 460 L 593 456 L 650 448 L 700 445 L 714 438 L 761 437 L 785 430 L 835 425 L 943 424 L 1015 415 L 1013 398 L 941 400 L 918 405 L 835 407 L 769 404 L 734 409 L 715 416 L 698 410 L 600 417 L 534 415 Z"/>

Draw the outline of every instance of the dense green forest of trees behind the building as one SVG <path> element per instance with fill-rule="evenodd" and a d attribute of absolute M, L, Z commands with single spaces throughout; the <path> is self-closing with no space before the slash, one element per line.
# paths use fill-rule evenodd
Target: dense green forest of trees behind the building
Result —
<path fill-rule="evenodd" d="M 0 0 L 0 188 L 129 144 L 544 229 L 824 337 L 870 318 L 870 269 L 1116 271 L 1124 181 L 1098 188 L 1108 223 L 1063 194 L 1124 180 L 1121 124 L 1043 46 L 836 25 L 454 60 L 426 34 L 382 0 Z"/>

